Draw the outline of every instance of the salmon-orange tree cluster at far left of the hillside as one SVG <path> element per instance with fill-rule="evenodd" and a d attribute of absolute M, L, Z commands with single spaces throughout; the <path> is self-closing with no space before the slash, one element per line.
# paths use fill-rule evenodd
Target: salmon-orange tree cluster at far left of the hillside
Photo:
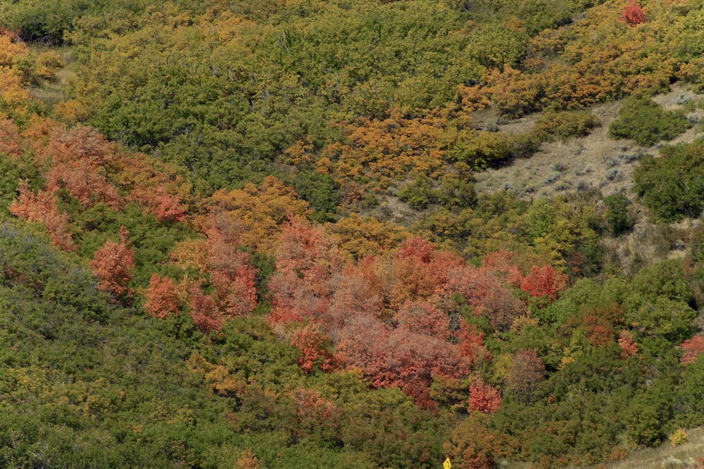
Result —
<path fill-rule="evenodd" d="M 20 148 L 31 148 L 34 165 L 43 169 L 45 181 L 36 190 L 20 184 L 10 211 L 44 224 L 59 248 L 75 249 L 70 215 L 58 204 L 64 196 L 84 208 L 104 203 L 120 210 L 135 201 L 162 222 L 184 220 L 185 208 L 177 194 L 182 181 L 155 169 L 144 155 L 122 151 L 96 129 L 77 125 L 67 131 L 51 120 L 37 120 L 21 133 L 11 120 L 4 121 L 2 128 L 8 131 L 1 143 L 8 155 L 27 158 Z"/>

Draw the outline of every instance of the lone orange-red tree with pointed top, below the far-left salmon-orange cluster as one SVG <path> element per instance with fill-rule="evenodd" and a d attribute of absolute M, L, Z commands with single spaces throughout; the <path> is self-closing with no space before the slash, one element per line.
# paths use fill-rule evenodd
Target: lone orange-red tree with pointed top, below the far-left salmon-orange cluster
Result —
<path fill-rule="evenodd" d="M 134 250 L 127 245 L 129 234 L 125 226 L 120 227 L 120 242 L 107 240 L 90 262 L 93 275 L 98 278 L 98 288 L 115 297 L 132 294 L 132 289 L 127 286 L 132 280 L 131 271 L 134 269 Z"/>

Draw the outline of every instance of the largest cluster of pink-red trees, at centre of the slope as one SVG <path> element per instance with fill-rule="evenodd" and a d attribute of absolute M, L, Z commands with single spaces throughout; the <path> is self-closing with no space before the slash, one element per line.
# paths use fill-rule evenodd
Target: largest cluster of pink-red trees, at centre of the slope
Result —
<path fill-rule="evenodd" d="M 375 387 L 399 387 L 418 404 L 432 406 L 429 390 L 436 378 L 471 377 L 492 359 L 482 331 L 460 311 L 462 302 L 474 316 L 508 330 L 526 314 L 528 297 L 551 300 L 566 286 L 565 274 L 550 266 L 523 274 L 510 252 L 485 261 L 469 266 L 411 238 L 394 252 L 346 262 L 322 227 L 294 218 L 279 238 L 269 283 L 270 323 L 301 349 L 306 371 L 358 368 Z M 517 359 L 520 368 L 529 362 Z M 470 409 L 496 411 L 500 402 L 494 387 L 472 378 Z"/>

